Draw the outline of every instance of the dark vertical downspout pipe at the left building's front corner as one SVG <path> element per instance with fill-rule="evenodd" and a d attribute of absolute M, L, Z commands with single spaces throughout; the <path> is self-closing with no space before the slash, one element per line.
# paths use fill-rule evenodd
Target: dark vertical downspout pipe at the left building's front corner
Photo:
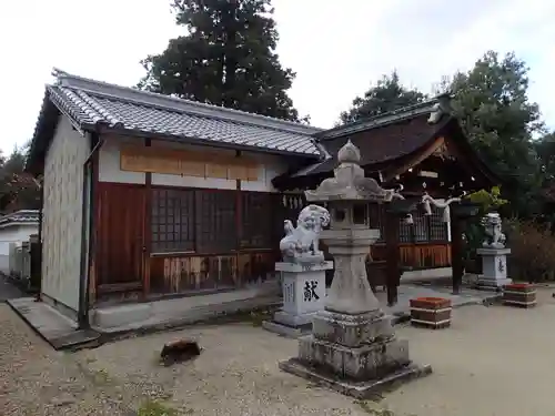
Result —
<path fill-rule="evenodd" d="M 89 322 L 89 282 L 90 282 L 90 260 L 93 235 L 93 195 L 94 195 L 94 156 L 104 144 L 103 139 L 99 139 L 98 133 L 90 134 L 91 153 L 83 163 L 83 196 L 82 196 L 82 233 L 81 233 L 81 273 L 79 276 L 79 329 L 90 328 Z"/>

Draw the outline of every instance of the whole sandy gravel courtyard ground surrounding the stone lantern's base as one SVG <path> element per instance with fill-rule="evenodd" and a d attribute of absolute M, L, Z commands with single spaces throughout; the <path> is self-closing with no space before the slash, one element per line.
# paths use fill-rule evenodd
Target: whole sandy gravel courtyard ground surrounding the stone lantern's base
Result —
<path fill-rule="evenodd" d="M 278 369 L 296 342 L 252 323 L 192 327 L 129 338 L 77 354 L 54 353 L 7 306 L 0 306 L 0 415 L 555 415 L 555 301 L 539 293 L 534 310 L 466 306 L 450 329 L 401 327 L 418 363 L 434 374 L 359 402 Z M 204 348 L 162 367 L 171 339 Z M 149 412 L 145 412 L 149 408 Z M 174 412 L 170 410 L 174 409 Z M 386 413 L 391 409 L 393 413 Z"/>

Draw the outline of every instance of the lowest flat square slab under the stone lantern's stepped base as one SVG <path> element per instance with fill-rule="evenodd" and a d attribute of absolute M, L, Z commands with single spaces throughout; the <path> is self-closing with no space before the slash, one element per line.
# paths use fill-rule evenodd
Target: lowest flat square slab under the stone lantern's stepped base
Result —
<path fill-rule="evenodd" d="M 410 363 L 380 379 L 354 382 L 349 379 L 339 379 L 331 373 L 326 373 L 325 371 L 301 363 L 299 358 L 291 358 L 285 362 L 281 362 L 279 366 L 286 373 L 317 383 L 324 387 L 359 399 L 375 397 L 384 390 L 397 387 L 402 383 L 432 374 L 432 367 L 430 365 L 417 366 Z"/>

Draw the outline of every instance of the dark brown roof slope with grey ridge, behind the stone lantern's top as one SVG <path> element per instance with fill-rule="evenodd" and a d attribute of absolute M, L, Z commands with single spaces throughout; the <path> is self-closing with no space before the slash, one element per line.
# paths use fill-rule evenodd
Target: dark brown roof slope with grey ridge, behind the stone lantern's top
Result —
<path fill-rule="evenodd" d="M 430 123 L 437 101 L 401 109 L 377 118 L 363 120 L 317 134 L 320 143 L 329 154 L 325 161 L 314 163 L 292 176 L 304 176 L 332 172 L 337 165 L 336 154 L 350 139 L 361 151 L 361 165 L 387 162 L 407 155 L 433 140 L 451 119 Z"/>

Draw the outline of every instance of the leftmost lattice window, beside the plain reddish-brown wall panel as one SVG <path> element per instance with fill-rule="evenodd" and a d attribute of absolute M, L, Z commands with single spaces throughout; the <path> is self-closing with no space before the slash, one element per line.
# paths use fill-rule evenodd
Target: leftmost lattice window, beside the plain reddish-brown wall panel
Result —
<path fill-rule="evenodd" d="M 194 191 L 152 190 L 153 253 L 194 251 Z"/>

